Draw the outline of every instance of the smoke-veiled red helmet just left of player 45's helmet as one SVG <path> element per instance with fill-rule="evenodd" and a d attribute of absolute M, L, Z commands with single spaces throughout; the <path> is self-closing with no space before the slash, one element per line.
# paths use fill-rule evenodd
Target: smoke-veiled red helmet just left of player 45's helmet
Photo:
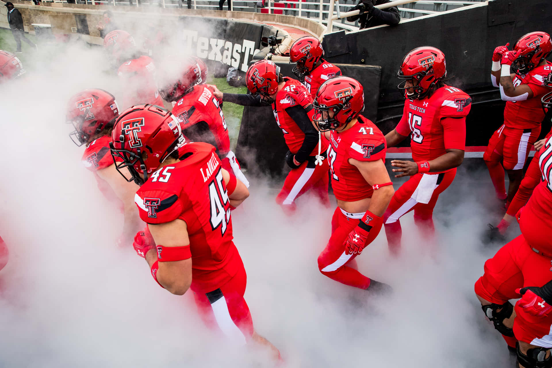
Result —
<path fill-rule="evenodd" d="M 81 90 L 67 104 L 67 122 L 75 127 L 69 136 L 77 146 L 82 146 L 105 127 L 113 125 L 117 116 L 119 106 L 111 93 L 98 88 Z"/>

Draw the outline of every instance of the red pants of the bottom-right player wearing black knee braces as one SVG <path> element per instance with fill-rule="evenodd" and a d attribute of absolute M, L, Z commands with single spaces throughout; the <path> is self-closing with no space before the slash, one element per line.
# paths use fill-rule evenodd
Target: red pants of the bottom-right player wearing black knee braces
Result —
<path fill-rule="evenodd" d="M 534 252 L 523 235 L 503 246 L 495 257 L 485 262 L 485 273 L 475 283 L 475 294 L 496 304 L 506 303 L 520 297 L 516 289 L 525 286 L 543 286 L 552 280 L 552 258 Z M 519 308 L 514 319 L 514 335 L 528 344 L 542 339 L 552 346 L 552 317 L 535 319 Z"/>

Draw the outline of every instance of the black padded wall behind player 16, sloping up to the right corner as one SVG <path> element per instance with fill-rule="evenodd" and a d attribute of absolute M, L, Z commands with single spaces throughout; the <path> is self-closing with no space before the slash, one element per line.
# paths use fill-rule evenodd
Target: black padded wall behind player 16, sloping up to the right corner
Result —
<path fill-rule="evenodd" d="M 402 58 L 418 46 L 438 47 L 447 58 L 447 83 L 465 90 L 473 99 L 466 122 L 466 143 L 486 146 L 492 132 L 502 124 L 505 105 L 498 88 L 491 86 L 492 51 L 507 42 L 513 45 L 530 31 L 550 33 L 551 10 L 550 0 L 494 0 L 489 6 L 437 14 L 397 26 L 327 34 L 322 45 L 330 62 L 381 66 L 376 123 L 384 133 L 402 115 L 404 99 L 396 88 Z"/>

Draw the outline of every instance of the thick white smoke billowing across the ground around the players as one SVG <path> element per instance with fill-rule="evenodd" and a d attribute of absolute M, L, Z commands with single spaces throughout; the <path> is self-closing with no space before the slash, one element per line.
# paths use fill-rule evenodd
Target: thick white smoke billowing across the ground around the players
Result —
<path fill-rule="evenodd" d="M 113 90 L 117 80 L 102 71 L 98 49 L 49 51 L 0 90 L 0 231 L 10 249 L 0 271 L 0 365 L 271 366 L 206 332 L 190 291 L 162 290 L 132 248 L 115 247 L 123 219 L 82 166 L 65 106 L 78 90 Z M 505 366 L 506 346 L 473 292 L 496 250 L 479 241 L 485 175 L 460 169 L 440 198 L 437 256 L 406 215 L 401 258 L 389 256 L 383 230 L 357 258 L 360 271 L 394 287 L 380 298 L 319 273 L 333 209 L 305 196 L 288 218 L 277 189 L 251 178 L 251 197 L 232 217 L 257 332 L 290 367 Z"/>

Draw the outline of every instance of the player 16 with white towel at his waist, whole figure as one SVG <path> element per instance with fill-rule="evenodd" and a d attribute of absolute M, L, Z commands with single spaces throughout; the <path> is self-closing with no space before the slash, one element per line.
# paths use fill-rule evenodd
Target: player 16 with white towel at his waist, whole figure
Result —
<path fill-rule="evenodd" d="M 388 147 L 411 137 L 414 161 L 393 160 L 395 178 L 410 176 L 395 192 L 384 215 L 389 250 L 401 247 L 399 218 L 414 210 L 416 225 L 433 236 L 433 208 L 439 194 L 452 183 L 464 159 L 466 115 L 471 98 L 443 82 L 447 74 L 445 56 L 435 47 L 423 46 L 408 52 L 397 77 L 404 79 L 405 109 L 395 129 L 385 135 Z"/>

